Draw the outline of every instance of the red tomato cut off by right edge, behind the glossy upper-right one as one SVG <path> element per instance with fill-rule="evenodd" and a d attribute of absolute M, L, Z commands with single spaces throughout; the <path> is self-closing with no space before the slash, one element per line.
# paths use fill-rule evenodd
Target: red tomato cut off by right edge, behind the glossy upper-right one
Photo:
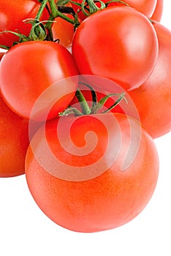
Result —
<path fill-rule="evenodd" d="M 171 130 L 171 32 L 153 24 L 159 39 L 159 57 L 150 78 L 129 92 L 140 114 L 142 126 L 153 138 Z"/>

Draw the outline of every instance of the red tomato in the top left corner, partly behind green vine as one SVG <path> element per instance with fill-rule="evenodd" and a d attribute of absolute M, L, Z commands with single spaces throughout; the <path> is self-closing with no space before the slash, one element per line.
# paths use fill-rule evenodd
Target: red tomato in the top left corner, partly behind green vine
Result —
<path fill-rule="evenodd" d="M 29 35 L 31 24 L 23 20 L 35 18 L 39 10 L 40 3 L 37 0 L 7 0 L 0 2 L 0 31 L 14 31 Z M 15 15 L 14 15 L 15 14 Z M 40 20 L 47 20 L 48 14 L 45 10 Z M 12 43 L 18 41 L 18 37 L 10 33 L 0 34 L 0 45 L 12 46 Z"/>

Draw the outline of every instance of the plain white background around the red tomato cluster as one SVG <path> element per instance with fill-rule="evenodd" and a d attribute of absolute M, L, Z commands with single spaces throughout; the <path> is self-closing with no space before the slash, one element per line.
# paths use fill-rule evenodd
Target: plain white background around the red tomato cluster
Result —
<path fill-rule="evenodd" d="M 170 13 L 171 1 L 164 0 L 161 23 L 169 29 Z M 25 176 L 0 178 L 0 255 L 170 256 L 171 132 L 155 143 L 160 160 L 156 191 L 138 217 L 115 230 L 75 233 L 59 227 L 34 203 Z"/>

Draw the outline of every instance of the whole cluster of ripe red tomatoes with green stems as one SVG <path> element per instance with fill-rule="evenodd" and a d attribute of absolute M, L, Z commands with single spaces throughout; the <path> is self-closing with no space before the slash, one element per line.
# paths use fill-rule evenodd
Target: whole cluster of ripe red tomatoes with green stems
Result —
<path fill-rule="evenodd" d="M 39 208 L 69 230 L 121 226 L 153 195 L 153 139 L 171 129 L 162 7 L 1 1 L 0 177 L 26 173 Z"/>

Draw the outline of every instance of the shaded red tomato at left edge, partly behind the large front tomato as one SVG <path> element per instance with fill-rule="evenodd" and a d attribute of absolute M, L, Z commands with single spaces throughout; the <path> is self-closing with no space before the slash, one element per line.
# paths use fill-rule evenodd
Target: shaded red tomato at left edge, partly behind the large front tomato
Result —
<path fill-rule="evenodd" d="M 12 112 L 0 95 L 0 177 L 25 173 L 28 121 Z"/>

